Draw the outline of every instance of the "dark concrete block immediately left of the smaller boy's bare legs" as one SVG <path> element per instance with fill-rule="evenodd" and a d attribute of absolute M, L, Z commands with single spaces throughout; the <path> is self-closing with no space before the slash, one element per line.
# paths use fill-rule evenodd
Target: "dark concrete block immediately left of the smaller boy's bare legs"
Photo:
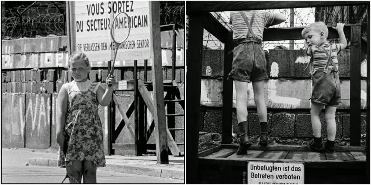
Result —
<path fill-rule="evenodd" d="M 312 137 L 311 114 L 297 114 L 295 116 L 295 137 Z"/>

